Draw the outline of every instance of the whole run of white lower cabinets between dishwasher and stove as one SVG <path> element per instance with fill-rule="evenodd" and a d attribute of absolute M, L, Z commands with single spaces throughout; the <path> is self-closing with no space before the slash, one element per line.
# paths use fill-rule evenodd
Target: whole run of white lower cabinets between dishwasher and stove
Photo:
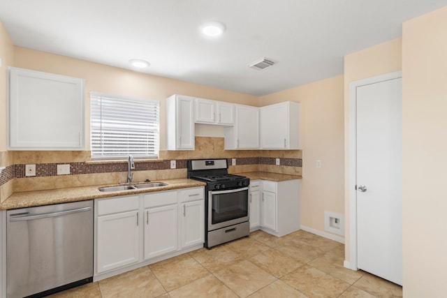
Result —
<path fill-rule="evenodd" d="M 95 276 L 200 248 L 204 204 L 203 187 L 95 200 Z"/>

